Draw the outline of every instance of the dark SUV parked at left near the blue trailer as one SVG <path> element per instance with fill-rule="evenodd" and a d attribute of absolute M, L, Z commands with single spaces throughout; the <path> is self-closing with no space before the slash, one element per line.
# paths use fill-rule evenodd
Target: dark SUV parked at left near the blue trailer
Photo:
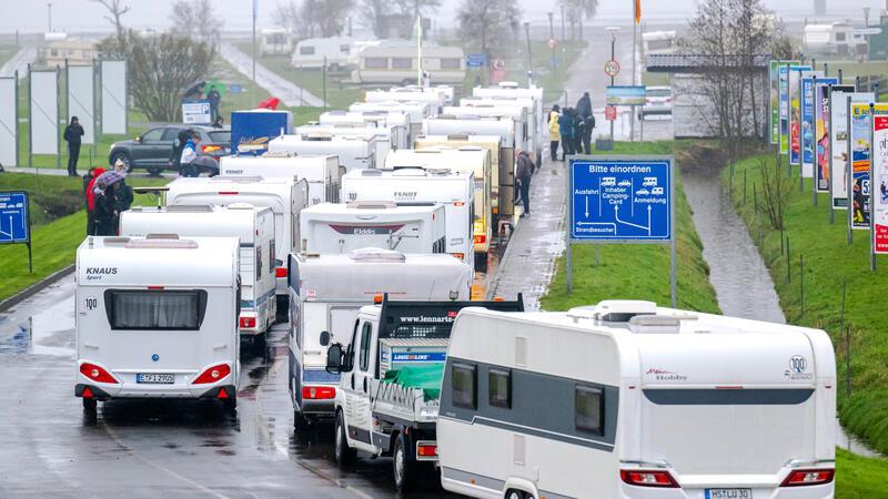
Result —
<path fill-rule="evenodd" d="M 231 152 L 231 130 L 214 129 L 212 126 L 164 125 L 149 130 L 133 140 L 114 142 L 108 154 L 110 164 L 118 160 L 123 161 L 127 171 L 137 169 L 148 170 L 151 175 L 160 175 L 164 170 L 173 170 L 170 164 L 173 142 L 183 130 L 193 130 L 201 136 L 198 155 L 215 160 L 215 171 L 209 166 L 201 166 L 201 172 L 214 175 L 219 173 L 219 159 Z M 209 164 L 209 162 L 208 162 Z"/>

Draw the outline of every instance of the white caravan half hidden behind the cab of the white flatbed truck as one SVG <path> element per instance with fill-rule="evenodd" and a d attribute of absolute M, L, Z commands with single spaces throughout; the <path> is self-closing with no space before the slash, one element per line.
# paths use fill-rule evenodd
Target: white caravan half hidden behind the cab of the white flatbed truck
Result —
<path fill-rule="evenodd" d="M 333 417 L 340 375 L 326 371 L 321 332 L 349 344 L 357 310 L 383 294 L 397 299 L 468 299 L 472 269 L 448 255 L 380 248 L 290 255 L 290 395 L 293 424 Z"/>

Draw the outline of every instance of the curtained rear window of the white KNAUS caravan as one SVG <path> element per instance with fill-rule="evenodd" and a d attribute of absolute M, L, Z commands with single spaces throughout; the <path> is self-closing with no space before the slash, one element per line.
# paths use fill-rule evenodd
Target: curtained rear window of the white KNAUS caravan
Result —
<path fill-rule="evenodd" d="M 114 330 L 196 330 L 206 312 L 206 292 L 108 289 L 104 304 Z"/>

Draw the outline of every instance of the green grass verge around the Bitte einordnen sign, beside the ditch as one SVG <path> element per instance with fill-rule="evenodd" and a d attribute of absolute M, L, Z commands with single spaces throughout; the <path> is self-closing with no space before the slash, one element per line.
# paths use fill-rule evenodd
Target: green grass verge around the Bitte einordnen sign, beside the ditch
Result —
<path fill-rule="evenodd" d="M 617 142 L 613 154 L 673 154 L 674 142 Z M 682 143 L 678 143 L 679 146 Z M 610 154 L 610 152 L 608 152 Z M 703 259 L 703 243 L 694 228 L 690 207 L 676 175 L 677 305 L 700 312 L 718 313 L 709 268 Z M 566 310 L 602 299 L 648 299 L 669 305 L 669 246 L 658 244 L 612 244 L 601 246 L 601 265 L 594 266 L 595 246 L 573 249 L 574 293 L 565 284 L 564 256 L 556 263 L 555 277 L 541 304 L 548 310 Z"/>

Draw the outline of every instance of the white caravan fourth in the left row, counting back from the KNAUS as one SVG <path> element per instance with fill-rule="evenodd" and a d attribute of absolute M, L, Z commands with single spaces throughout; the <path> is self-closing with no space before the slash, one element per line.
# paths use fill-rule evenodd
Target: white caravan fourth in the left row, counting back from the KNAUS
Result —
<path fill-rule="evenodd" d="M 219 169 L 225 176 L 304 180 L 309 183 L 309 205 L 340 201 L 342 171 L 337 156 L 272 152 L 261 156 L 222 156 Z"/>

